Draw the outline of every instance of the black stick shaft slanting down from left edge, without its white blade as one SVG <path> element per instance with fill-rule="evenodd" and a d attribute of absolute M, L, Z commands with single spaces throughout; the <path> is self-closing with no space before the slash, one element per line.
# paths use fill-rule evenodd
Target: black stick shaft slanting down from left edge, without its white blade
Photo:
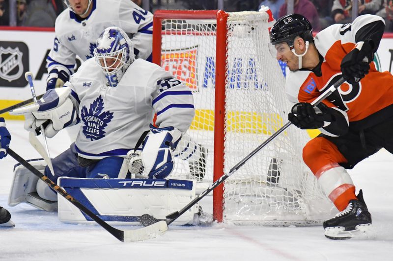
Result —
<path fill-rule="evenodd" d="M 34 175 L 39 177 L 41 180 L 43 180 L 49 187 L 52 189 L 56 190 L 57 193 L 62 195 L 64 198 L 66 198 L 69 202 L 71 202 L 75 207 L 77 207 L 79 210 L 83 211 L 84 214 L 88 215 L 93 219 L 95 222 L 97 222 L 101 227 L 103 227 L 105 230 L 107 230 L 109 233 L 111 233 L 114 237 L 119 239 L 120 241 L 124 241 L 124 231 L 118 230 L 108 223 L 106 223 L 104 220 L 96 216 L 94 213 L 89 211 L 84 205 L 82 205 L 79 201 L 75 200 L 70 194 L 68 194 L 65 190 L 57 186 L 52 180 L 50 180 L 47 176 L 42 174 L 38 169 L 35 167 L 31 166 L 27 161 L 25 161 L 21 156 L 19 156 L 16 152 L 14 152 L 12 149 L 8 149 L 8 154 L 14 158 L 17 162 L 22 164 L 24 167 L 26 167 L 28 170 L 30 170 Z"/>

